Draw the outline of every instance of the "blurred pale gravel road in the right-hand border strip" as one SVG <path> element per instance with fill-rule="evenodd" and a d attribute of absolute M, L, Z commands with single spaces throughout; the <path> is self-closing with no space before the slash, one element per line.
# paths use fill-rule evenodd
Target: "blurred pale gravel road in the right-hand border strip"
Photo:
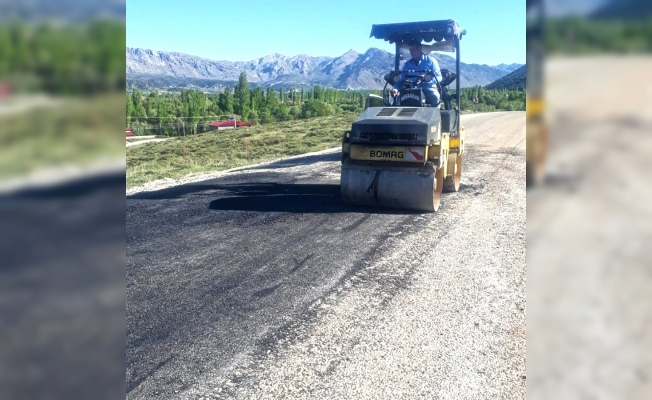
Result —
<path fill-rule="evenodd" d="M 548 176 L 527 194 L 528 399 L 652 398 L 650 70 L 647 55 L 546 63 Z M 613 71 L 626 73 L 603 80 Z"/>

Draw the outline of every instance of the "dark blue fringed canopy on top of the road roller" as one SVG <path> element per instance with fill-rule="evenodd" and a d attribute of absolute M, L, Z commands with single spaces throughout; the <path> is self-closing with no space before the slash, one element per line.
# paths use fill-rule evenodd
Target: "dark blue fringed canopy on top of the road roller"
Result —
<path fill-rule="evenodd" d="M 411 40 L 420 42 L 454 41 L 461 39 L 464 33 L 457 22 L 448 19 L 373 25 L 369 37 L 383 39 L 389 43 L 406 44 Z"/>

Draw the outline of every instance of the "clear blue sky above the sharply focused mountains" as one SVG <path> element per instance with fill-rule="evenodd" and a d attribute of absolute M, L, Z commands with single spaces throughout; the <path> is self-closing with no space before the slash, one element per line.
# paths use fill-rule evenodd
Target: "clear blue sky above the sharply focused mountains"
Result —
<path fill-rule="evenodd" d="M 398 2 L 127 1 L 127 47 L 249 61 L 272 53 L 337 57 L 370 47 L 373 24 L 454 19 L 465 63 L 525 63 L 525 0 Z"/>

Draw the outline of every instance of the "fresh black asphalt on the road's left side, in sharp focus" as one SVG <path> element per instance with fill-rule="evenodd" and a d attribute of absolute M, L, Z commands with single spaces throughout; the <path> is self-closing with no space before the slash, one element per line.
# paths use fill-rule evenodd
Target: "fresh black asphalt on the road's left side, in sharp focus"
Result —
<path fill-rule="evenodd" d="M 314 158 L 337 173 L 339 157 Z M 280 164 L 128 197 L 128 393 L 171 395 L 264 351 L 414 217 L 347 206 L 337 180 Z"/>

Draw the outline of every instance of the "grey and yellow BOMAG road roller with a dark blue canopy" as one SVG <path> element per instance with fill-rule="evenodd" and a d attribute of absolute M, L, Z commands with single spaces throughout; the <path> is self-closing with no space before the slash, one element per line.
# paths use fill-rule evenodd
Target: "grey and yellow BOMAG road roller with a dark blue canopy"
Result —
<path fill-rule="evenodd" d="M 345 203 L 432 212 L 439 208 L 442 191 L 459 190 L 464 154 L 460 41 L 465 34 L 453 20 L 372 26 L 371 37 L 395 44 L 394 69 L 384 76 L 382 97 L 369 95 L 365 111 L 343 135 Z M 401 70 L 401 59 L 410 57 L 406 49 L 414 42 L 421 43 L 427 55 L 455 53 L 455 72 L 442 68 L 440 81 L 426 69 Z M 439 104 L 426 103 L 419 88 L 424 81 L 439 90 Z M 452 93 L 448 86 L 454 81 Z M 391 90 L 399 83 L 394 97 Z"/>

